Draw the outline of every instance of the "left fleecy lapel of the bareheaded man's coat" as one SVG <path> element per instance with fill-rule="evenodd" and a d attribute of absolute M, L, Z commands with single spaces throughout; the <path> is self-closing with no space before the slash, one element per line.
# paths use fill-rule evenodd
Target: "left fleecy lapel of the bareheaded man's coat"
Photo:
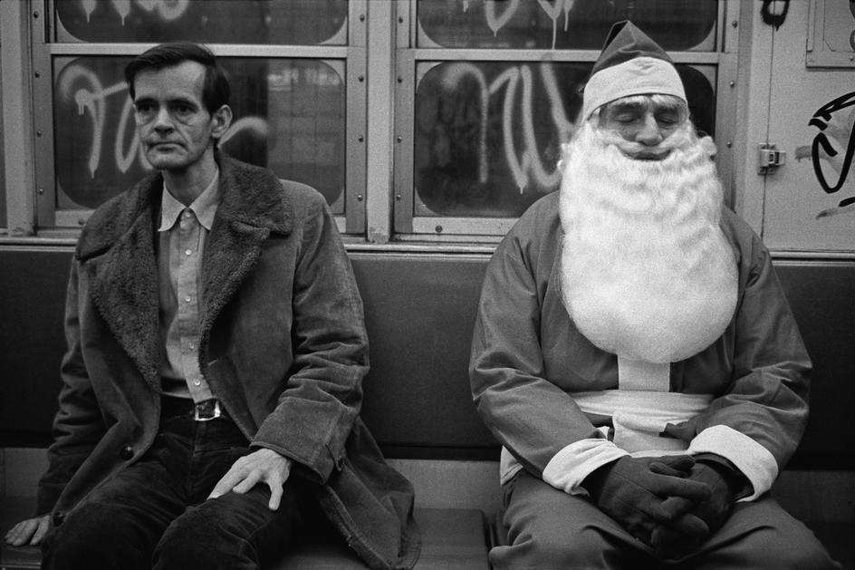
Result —
<path fill-rule="evenodd" d="M 93 214 L 78 246 L 91 298 L 145 381 L 160 391 L 159 292 L 153 204 L 163 181 L 152 175 Z"/>

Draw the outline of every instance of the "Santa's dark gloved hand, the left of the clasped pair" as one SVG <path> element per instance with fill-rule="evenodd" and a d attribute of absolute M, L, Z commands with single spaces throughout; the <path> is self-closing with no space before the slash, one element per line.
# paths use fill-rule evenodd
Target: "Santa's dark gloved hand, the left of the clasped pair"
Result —
<path fill-rule="evenodd" d="M 654 530 L 662 525 L 702 540 L 709 527 L 689 511 L 709 501 L 712 492 L 704 481 L 689 477 L 695 465 L 687 455 L 625 456 L 593 471 L 582 487 L 600 510 L 647 545 L 653 546 Z M 668 498 L 685 500 L 666 504 Z"/>

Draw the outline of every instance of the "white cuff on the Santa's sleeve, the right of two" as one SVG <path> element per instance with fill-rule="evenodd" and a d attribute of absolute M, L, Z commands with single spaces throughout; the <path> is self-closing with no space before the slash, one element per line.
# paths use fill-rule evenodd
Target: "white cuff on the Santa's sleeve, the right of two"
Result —
<path fill-rule="evenodd" d="M 715 453 L 728 459 L 751 482 L 754 493 L 741 501 L 753 501 L 770 488 L 778 477 L 778 462 L 772 452 L 744 433 L 727 426 L 713 426 L 701 431 L 688 446 L 688 453 Z"/>

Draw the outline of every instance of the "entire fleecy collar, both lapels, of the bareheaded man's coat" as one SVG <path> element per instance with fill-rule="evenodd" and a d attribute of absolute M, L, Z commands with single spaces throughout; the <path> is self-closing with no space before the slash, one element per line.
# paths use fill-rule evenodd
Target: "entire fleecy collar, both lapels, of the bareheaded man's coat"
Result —
<path fill-rule="evenodd" d="M 217 154 L 221 201 L 203 258 L 199 360 L 216 315 L 251 274 L 264 241 L 293 228 L 293 198 L 268 169 Z M 160 390 L 156 226 L 163 177 L 151 174 L 92 214 L 77 246 L 98 313 L 150 387 Z"/>

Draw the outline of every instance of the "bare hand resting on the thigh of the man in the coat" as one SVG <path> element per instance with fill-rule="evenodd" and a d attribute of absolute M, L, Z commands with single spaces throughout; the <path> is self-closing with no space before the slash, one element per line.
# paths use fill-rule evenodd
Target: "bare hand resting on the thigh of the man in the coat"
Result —
<path fill-rule="evenodd" d="M 273 449 L 258 449 L 237 459 L 226 475 L 217 481 L 208 498 L 217 498 L 228 491 L 245 493 L 257 483 L 264 482 L 270 488 L 270 502 L 267 507 L 276 510 L 282 499 L 282 486 L 290 475 L 291 459 Z"/>

